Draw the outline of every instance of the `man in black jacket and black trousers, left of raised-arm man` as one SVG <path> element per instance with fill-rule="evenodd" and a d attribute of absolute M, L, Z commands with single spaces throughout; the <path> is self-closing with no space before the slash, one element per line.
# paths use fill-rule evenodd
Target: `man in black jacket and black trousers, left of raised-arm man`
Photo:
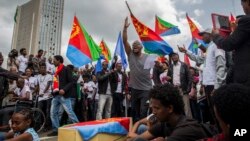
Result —
<path fill-rule="evenodd" d="M 112 116 L 122 117 L 123 116 L 123 98 L 125 94 L 126 85 L 126 74 L 122 72 L 122 64 L 117 62 L 115 65 L 116 70 L 111 75 L 111 89 L 114 90 L 113 94 L 113 105 L 112 105 Z"/>

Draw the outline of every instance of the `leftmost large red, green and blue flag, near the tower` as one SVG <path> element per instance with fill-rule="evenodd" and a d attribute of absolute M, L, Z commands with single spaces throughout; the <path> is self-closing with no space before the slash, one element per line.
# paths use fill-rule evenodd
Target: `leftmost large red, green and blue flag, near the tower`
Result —
<path fill-rule="evenodd" d="M 99 58 L 98 45 L 74 17 L 66 56 L 75 67 L 81 67 Z"/>

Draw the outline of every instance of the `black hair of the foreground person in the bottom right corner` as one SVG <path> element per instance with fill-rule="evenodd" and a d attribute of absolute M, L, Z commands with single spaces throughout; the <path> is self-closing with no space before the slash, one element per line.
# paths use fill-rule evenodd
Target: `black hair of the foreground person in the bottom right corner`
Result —
<path fill-rule="evenodd" d="M 225 123 L 230 125 L 230 129 L 249 125 L 250 90 L 248 87 L 241 84 L 224 85 L 214 92 L 212 99 L 217 113 Z"/>

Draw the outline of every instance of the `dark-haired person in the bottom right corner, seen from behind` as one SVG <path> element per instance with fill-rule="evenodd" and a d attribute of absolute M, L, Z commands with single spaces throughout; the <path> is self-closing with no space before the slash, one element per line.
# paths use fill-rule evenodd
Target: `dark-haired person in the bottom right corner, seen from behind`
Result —
<path fill-rule="evenodd" d="M 250 89 L 241 84 L 229 84 L 214 92 L 214 111 L 222 133 L 204 141 L 249 141 L 250 133 L 237 137 L 237 129 L 249 131 Z"/>

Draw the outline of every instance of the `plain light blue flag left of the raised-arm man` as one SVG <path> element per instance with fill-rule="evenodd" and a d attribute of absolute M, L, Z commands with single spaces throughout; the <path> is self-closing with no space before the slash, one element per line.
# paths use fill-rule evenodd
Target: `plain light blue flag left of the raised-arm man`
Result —
<path fill-rule="evenodd" d="M 126 70 L 126 68 L 128 66 L 128 62 L 127 62 L 127 58 L 126 58 L 126 55 L 125 55 L 125 48 L 124 48 L 124 44 L 123 44 L 123 41 L 122 41 L 121 32 L 119 33 L 119 36 L 118 36 L 118 39 L 117 39 L 114 56 L 119 56 L 120 57 L 122 67 Z"/>

